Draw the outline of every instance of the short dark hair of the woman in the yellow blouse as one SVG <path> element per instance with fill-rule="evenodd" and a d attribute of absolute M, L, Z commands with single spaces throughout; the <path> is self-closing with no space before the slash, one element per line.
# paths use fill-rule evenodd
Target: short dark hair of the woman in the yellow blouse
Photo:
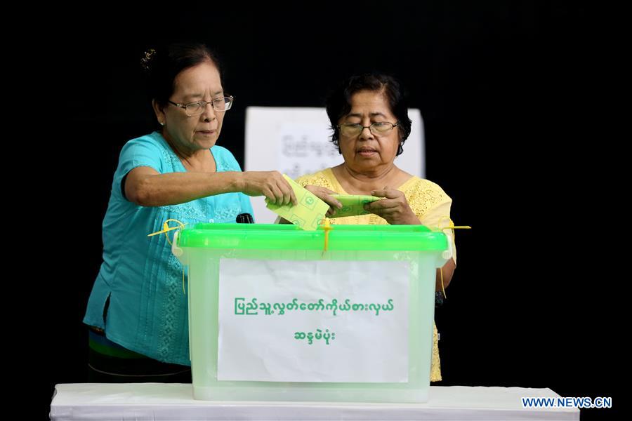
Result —
<path fill-rule="evenodd" d="M 397 155 L 402 154 L 402 145 L 410 135 L 412 120 L 408 118 L 408 105 L 404 95 L 404 88 L 393 76 L 378 73 L 367 73 L 351 76 L 345 80 L 338 88 L 329 94 L 327 98 L 327 116 L 331 123 L 334 134 L 331 135 L 331 142 L 338 147 L 340 152 L 340 133 L 338 132 L 338 121 L 351 111 L 351 97 L 359 91 L 383 91 L 390 111 L 393 112 L 400 124 L 400 145 L 397 146 Z"/>

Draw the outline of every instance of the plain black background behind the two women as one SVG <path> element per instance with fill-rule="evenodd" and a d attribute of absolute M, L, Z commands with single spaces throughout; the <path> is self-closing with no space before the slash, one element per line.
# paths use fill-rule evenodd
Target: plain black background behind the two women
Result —
<path fill-rule="evenodd" d="M 622 217 L 605 100 L 617 95 L 616 51 L 598 29 L 603 11 L 515 1 L 185 6 L 79 11 L 41 31 L 36 61 L 53 92 L 42 105 L 51 135 L 35 145 L 46 186 L 38 203 L 47 203 L 39 218 L 59 224 L 39 245 L 41 265 L 31 263 L 46 272 L 42 417 L 55 384 L 86 381 L 81 319 L 112 174 L 121 146 L 153 128 L 140 57 L 178 39 L 206 42 L 223 62 L 237 100 L 218 144 L 242 165 L 245 107 L 319 107 L 350 74 L 398 76 L 424 119 L 426 178 L 452 196 L 456 224 L 473 227 L 458 232 L 459 267 L 436 314 L 442 385 L 617 393 L 623 321 L 611 288 L 624 276 L 611 236 Z"/>

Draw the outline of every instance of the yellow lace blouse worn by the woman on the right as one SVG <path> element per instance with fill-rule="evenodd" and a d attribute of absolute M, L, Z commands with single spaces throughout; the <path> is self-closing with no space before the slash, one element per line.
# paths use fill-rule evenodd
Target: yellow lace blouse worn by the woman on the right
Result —
<path fill-rule="evenodd" d="M 326 187 L 338 194 L 348 194 L 342 188 L 334 172 L 331 168 L 327 168 L 315 174 L 303 175 L 296 179 L 301 186 L 312 185 Z M 452 199 L 435 183 L 423 180 L 419 177 L 411 177 L 403 185 L 397 187 L 398 190 L 404 192 L 408 205 L 413 210 L 417 218 L 423 225 L 428 227 L 437 227 L 440 219 L 450 215 L 450 206 Z M 369 213 L 367 215 L 348 216 L 344 218 L 333 218 L 329 222 L 344 225 L 386 225 L 385 219 L 378 215 Z M 456 248 L 452 244 L 454 261 L 456 262 Z M 441 362 L 439 359 L 439 339 L 437 335 L 437 326 L 434 326 L 433 333 L 433 360 L 430 368 L 430 381 L 438 382 L 441 380 Z"/>

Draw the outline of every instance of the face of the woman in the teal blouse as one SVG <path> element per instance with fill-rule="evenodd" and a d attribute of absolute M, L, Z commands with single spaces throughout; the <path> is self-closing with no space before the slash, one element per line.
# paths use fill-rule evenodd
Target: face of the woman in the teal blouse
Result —
<path fill-rule="evenodd" d="M 174 86 L 169 100 L 183 105 L 201 100 L 209 104 L 197 116 L 188 116 L 185 109 L 172 104 L 158 110 L 158 120 L 164 122 L 164 138 L 187 152 L 213 147 L 222 129 L 225 114 L 215 111 L 211 106 L 212 100 L 224 96 L 217 67 L 212 62 L 202 62 L 184 69 L 176 76 Z"/>

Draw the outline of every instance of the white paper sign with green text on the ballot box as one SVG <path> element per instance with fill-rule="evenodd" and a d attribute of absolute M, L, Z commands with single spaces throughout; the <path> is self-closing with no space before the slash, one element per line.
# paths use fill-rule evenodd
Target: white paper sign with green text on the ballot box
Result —
<path fill-rule="evenodd" d="M 408 381 L 409 262 L 221 259 L 219 283 L 218 380 Z"/>

